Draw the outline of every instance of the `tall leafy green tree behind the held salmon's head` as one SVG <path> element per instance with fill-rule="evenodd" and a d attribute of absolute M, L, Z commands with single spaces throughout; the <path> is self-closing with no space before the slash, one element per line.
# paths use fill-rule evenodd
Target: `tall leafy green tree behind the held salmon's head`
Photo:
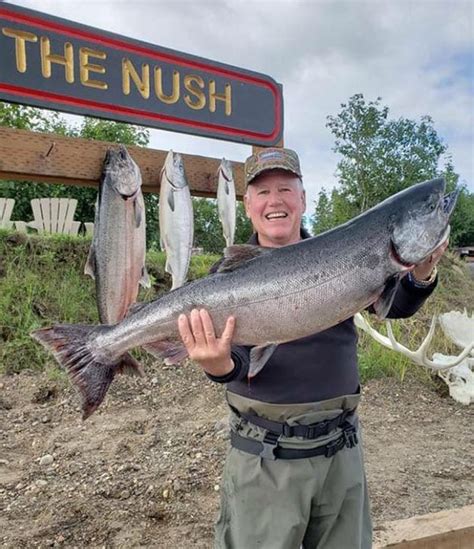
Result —
<path fill-rule="evenodd" d="M 338 186 L 329 194 L 324 189 L 316 200 L 312 218 L 318 234 L 375 206 L 388 196 L 415 183 L 442 176 L 448 190 L 454 189 L 458 175 L 448 157 L 438 170 L 447 147 L 439 138 L 429 116 L 419 122 L 389 119 L 389 109 L 381 99 L 365 101 L 356 94 L 342 105 L 336 116 L 328 116 L 327 126 L 335 136 Z M 474 242 L 472 193 L 463 188 L 453 218 L 452 244 Z"/>

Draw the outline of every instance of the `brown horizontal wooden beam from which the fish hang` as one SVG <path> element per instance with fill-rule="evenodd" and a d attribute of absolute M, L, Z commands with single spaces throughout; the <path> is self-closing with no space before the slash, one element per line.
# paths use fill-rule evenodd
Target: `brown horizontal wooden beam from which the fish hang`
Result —
<path fill-rule="evenodd" d="M 0 179 L 94 187 L 107 149 L 116 143 L 0 127 Z M 159 193 L 168 151 L 127 146 L 140 167 L 145 192 Z M 221 159 L 183 154 L 191 193 L 215 197 Z M 244 194 L 243 163 L 232 162 L 237 197 Z"/>

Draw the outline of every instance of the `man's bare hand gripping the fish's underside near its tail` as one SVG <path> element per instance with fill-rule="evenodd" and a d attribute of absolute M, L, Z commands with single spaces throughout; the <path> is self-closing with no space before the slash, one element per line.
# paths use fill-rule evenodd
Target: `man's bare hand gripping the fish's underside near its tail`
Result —
<path fill-rule="evenodd" d="M 235 319 L 227 319 L 220 338 L 216 337 L 214 324 L 205 309 L 193 309 L 189 315 L 178 318 L 178 329 L 189 358 L 213 376 L 225 376 L 234 369 L 230 356 L 230 345 L 234 334 Z"/>

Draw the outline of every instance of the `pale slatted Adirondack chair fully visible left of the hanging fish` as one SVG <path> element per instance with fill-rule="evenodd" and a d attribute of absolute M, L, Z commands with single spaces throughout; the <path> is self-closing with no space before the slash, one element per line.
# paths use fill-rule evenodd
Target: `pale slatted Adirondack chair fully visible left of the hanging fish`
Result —
<path fill-rule="evenodd" d="M 77 234 L 81 222 L 74 221 L 76 207 L 75 198 L 33 198 L 31 209 L 34 220 L 29 223 L 17 221 L 15 226 L 19 231 L 31 227 L 40 233 Z"/>

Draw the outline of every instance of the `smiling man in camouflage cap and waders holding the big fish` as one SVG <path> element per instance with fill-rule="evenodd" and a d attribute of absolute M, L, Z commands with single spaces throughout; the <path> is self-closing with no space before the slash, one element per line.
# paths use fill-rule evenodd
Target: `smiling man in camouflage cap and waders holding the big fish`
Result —
<path fill-rule="evenodd" d="M 301 228 L 306 199 L 294 151 L 252 155 L 245 178 L 245 209 L 255 230 L 250 244 L 280 247 L 309 237 Z M 389 316 L 419 309 L 436 285 L 445 247 L 402 280 Z M 205 310 L 181 315 L 178 324 L 189 356 L 212 380 L 227 384 L 232 448 L 216 547 L 371 547 L 353 319 L 279 345 L 250 381 L 249 348 L 231 345 L 233 317 L 221 337 Z"/>

